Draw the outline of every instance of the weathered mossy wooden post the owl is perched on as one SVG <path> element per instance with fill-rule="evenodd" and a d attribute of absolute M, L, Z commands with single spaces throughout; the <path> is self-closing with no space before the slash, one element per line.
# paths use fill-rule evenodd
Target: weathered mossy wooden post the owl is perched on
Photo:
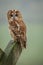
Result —
<path fill-rule="evenodd" d="M 0 65 L 15 65 L 22 52 L 21 45 L 11 40 L 4 50 L 4 56 Z"/>

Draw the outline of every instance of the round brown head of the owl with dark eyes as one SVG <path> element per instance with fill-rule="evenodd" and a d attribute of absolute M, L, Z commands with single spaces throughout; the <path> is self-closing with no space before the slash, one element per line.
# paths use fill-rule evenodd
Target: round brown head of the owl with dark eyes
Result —
<path fill-rule="evenodd" d="M 9 22 L 11 21 L 15 21 L 15 20 L 22 20 L 22 15 L 20 13 L 20 11 L 18 10 L 9 10 L 7 13 L 7 18 L 9 20 Z"/>

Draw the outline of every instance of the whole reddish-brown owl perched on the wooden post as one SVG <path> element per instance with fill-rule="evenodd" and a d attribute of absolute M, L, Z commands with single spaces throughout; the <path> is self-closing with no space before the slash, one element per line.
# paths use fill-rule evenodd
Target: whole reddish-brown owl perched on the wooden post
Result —
<path fill-rule="evenodd" d="M 14 41 L 26 48 L 26 25 L 19 10 L 9 10 L 7 12 L 10 35 Z"/>

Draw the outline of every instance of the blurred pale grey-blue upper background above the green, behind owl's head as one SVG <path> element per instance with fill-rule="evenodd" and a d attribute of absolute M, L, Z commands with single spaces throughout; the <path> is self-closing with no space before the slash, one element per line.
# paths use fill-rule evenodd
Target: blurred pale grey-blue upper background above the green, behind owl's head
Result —
<path fill-rule="evenodd" d="M 43 0 L 0 0 L 0 24 L 7 23 L 7 11 L 18 9 L 25 22 L 43 23 Z"/>

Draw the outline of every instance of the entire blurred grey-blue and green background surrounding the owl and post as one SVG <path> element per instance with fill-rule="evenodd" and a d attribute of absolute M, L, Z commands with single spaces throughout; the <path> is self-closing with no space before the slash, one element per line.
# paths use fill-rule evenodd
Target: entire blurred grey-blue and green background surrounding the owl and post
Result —
<path fill-rule="evenodd" d="M 27 26 L 27 48 L 17 65 L 43 65 L 43 1 L 0 0 L 0 48 L 4 50 L 11 40 L 7 11 L 19 9 Z"/>

